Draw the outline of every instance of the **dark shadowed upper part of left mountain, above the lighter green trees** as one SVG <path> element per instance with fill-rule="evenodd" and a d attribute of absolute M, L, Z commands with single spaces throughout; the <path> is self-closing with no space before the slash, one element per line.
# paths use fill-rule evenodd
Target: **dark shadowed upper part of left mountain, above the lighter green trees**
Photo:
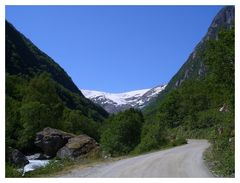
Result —
<path fill-rule="evenodd" d="M 59 84 L 81 95 L 67 73 L 8 22 L 6 22 L 6 72 L 12 75 L 21 73 L 30 77 L 48 72 Z"/>

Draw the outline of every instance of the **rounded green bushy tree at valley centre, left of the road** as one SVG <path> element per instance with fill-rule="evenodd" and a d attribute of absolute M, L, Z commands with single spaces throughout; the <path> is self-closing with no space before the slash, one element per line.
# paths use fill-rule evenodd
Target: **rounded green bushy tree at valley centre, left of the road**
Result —
<path fill-rule="evenodd" d="M 129 153 L 140 142 L 142 113 L 129 109 L 110 117 L 101 133 L 101 146 L 112 155 Z"/>

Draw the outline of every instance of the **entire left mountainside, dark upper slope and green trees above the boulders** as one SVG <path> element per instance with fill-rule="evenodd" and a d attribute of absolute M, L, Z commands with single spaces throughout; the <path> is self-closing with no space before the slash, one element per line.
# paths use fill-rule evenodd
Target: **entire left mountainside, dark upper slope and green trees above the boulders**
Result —
<path fill-rule="evenodd" d="M 28 150 L 46 126 L 98 138 L 108 113 L 67 73 L 6 21 L 6 143 Z"/>

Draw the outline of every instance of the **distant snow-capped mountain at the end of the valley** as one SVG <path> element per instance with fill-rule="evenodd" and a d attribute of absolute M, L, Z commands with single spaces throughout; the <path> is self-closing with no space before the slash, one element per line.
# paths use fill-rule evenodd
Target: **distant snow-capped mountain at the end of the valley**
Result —
<path fill-rule="evenodd" d="M 116 113 L 133 108 L 143 108 L 150 100 L 155 98 L 166 85 L 157 86 L 150 89 L 142 89 L 125 93 L 107 93 L 101 91 L 83 90 L 83 95 L 94 103 L 102 106 L 109 113 Z"/>

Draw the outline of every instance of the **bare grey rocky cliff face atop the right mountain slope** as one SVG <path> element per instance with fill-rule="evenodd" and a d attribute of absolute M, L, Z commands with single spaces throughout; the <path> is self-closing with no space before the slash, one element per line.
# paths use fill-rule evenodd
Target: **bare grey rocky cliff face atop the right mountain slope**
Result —
<path fill-rule="evenodd" d="M 167 87 L 158 98 L 145 108 L 145 113 L 151 115 L 156 112 L 158 104 L 165 98 L 166 94 L 173 89 L 178 88 L 185 80 L 199 80 L 204 78 L 206 68 L 201 59 L 203 51 L 206 49 L 206 41 L 217 39 L 218 32 L 221 29 L 229 29 L 233 26 L 235 13 L 233 6 L 226 6 L 213 19 L 206 35 L 197 44 L 194 51 L 190 54 L 187 61 L 183 64 L 180 70 L 172 77 L 167 84 Z"/>

